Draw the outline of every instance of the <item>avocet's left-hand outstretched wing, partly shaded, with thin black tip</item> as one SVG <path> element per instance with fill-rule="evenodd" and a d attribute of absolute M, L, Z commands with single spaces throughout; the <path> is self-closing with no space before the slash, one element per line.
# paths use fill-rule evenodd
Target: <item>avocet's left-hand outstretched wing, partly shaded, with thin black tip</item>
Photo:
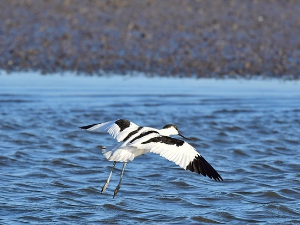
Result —
<path fill-rule="evenodd" d="M 108 132 L 111 136 L 117 139 L 118 142 L 127 140 L 133 134 L 137 133 L 142 127 L 129 120 L 119 119 L 105 123 L 96 123 L 80 127 L 88 131 Z"/>

